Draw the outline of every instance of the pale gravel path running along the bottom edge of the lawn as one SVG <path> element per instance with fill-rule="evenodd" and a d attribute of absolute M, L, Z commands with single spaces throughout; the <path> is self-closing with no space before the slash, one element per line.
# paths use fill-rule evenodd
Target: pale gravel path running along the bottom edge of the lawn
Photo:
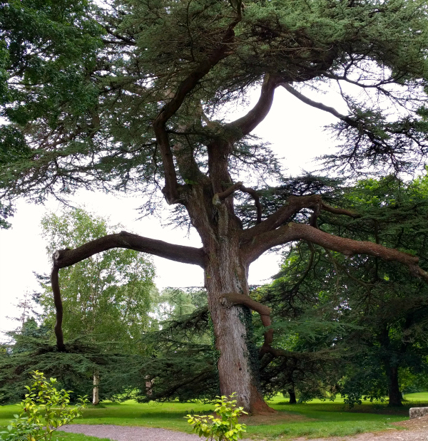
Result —
<path fill-rule="evenodd" d="M 310 441 L 428 441 L 428 415 L 409 421 L 394 423 L 407 430 L 387 430 L 377 433 L 361 433 L 352 437 L 317 438 Z M 153 429 L 149 427 L 116 426 L 116 425 L 86 425 L 73 424 L 61 427 L 64 432 L 83 433 L 84 435 L 108 438 L 116 441 L 196 441 L 198 435 L 173 432 L 172 430 Z M 305 441 L 299 437 L 294 441 Z M 243 440 L 250 441 L 250 440 Z"/>

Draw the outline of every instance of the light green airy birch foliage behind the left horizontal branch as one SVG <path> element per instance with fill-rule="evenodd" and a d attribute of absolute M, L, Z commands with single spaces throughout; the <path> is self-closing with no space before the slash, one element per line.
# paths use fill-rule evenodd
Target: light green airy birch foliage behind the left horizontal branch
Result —
<path fill-rule="evenodd" d="M 74 249 L 113 231 L 106 219 L 84 209 L 42 220 L 44 237 L 51 255 L 56 249 Z M 124 353 L 142 353 L 143 331 L 148 328 L 155 268 L 149 256 L 130 249 L 111 249 L 61 270 L 63 333 L 65 338 L 91 336 L 92 341 L 121 343 Z M 42 284 L 39 303 L 44 323 L 55 323 L 51 286 Z"/>

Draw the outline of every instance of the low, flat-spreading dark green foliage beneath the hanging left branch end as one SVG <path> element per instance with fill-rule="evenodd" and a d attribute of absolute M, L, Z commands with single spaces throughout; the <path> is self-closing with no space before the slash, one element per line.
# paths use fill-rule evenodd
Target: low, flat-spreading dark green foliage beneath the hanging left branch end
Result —
<path fill-rule="evenodd" d="M 24 385 L 34 369 L 56 375 L 61 388 L 73 390 L 72 400 L 91 393 L 94 370 L 102 379 L 100 400 L 126 400 L 133 396 L 133 388 L 141 385 L 138 373 L 143 358 L 123 353 L 120 345 L 77 338 L 68 341 L 67 352 L 61 353 L 56 350 L 53 333 L 46 332 L 46 328 L 34 328 L 29 334 L 14 333 L 15 342 L 2 346 L 5 351 L 0 353 L 1 404 L 17 403 L 24 397 Z"/>

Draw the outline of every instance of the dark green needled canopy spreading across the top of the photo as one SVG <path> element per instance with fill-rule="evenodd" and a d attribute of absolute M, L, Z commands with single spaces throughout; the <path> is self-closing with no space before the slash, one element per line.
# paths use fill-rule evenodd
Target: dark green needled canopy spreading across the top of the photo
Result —
<path fill-rule="evenodd" d="M 370 95 L 343 92 L 348 115 L 333 128 L 343 142 L 332 164 L 397 170 L 417 164 L 427 149 L 420 105 L 427 85 L 424 6 L 424 0 L 249 1 L 242 8 L 218 0 L 116 0 L 102 9 L 83 0 L 3 2 L 3 115 L 32 151 L 20 167 L 2 168 L 9 196 L 44 199 L 97 186 L 151 190 L 145 207 L 156 208 L 153 184 L 159 187 L 163 164 L 153 119 L 165 97 L 205 63 L 236 13 L 242 16 L 233 49 L 170 119 L 171 145 L 190 146 L 205 170 L 209 142 L 233 129 L 222 120 L 206 123 L 202 110 L 228 112 L 225 105 L 245 101 L 270 73 L 320 90 L 354 81 Z M 7 77 L 14 81 L 6 91 Z M 395 103 L 406 116 L 392 120 L 385 109 Z M 237 179 L 244 174 L 264 185 L 267 172 L 280 175 L 265 142 L 241 138 L 230 153 Z M 180 183 L 197 181 L 192 170 L 180 171 Z"/>

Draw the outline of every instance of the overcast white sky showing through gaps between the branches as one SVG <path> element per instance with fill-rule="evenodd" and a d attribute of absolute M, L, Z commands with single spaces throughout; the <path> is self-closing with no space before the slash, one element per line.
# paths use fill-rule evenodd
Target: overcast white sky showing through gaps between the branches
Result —
<path fill-rule="evenodd" d="M 330 94 L 329 94 L 330 95 Z M 258 94 L 255 94 L 255 99 Z M 312 95 L 313 99 L 324 100 L 322 95 Z M 329 97 L 330 98 L 330 97 Z M 329 100 L 337 103 L 337 98 Z M 327 103 L 327 102 L 326 102 Z M 245 109 L 233 111 L 233 118 Z M 338 109 L 342 110 L 342 109 Z M 332 115 L 310 108 L 297 98 L 280 88 L 275 93 L 272 110 L 255 131 L 264 140 L 270 142 L 272 150 L 290 175 L 298 175 L 302 170 L 313 170 L 312 158 L 325 154 L 334 145 L 323 127 L 335 121 Z M 112 224 L 121 223 L 124 229 L 136 232 L 145 237 L 161 239 L 175 244 L 200 246 L 198 235 L 193 233 L 186 237 L 186 232 L 173 227 L 161 227 L 158 219 L 143 219 L 136 222 L 138 199 L 120 199 L 101 193 L 79 192 L 73 201 L 85 205 L 86 209 L 110 217 Z M 166 209 L 166 204 L 165 204 Z M 51 262 L 46 256 L 46 244 L 41 238 L 40 221 L 46 212 L 61 212 L 58 202 L 49 201 L 45 207 L 28 204 L 21 200 L 17 212 L 11 219 L 13 227 L 0 230 L 0 331 L 16 327 L 16 322 L 6 316 L 17 316 L 14 307 L 26 291 L 38 288 L 33 271 L 49 274 Z M 165 212 L 165 217 L 166 217 Z M 156 264 L 156 284 L 159 289 L 165 286 L 202 286 L 203 271 L 198 266 L 179 264 L 159 257 L 154 257 Z M 250 266 L 250 284 L 262 284 L 277 272 L 279 256 L 265 254 Z M 61 274 L 60 274 L 61 276 Z M 1 339 L 1 335 L 0 335 Z"/>

